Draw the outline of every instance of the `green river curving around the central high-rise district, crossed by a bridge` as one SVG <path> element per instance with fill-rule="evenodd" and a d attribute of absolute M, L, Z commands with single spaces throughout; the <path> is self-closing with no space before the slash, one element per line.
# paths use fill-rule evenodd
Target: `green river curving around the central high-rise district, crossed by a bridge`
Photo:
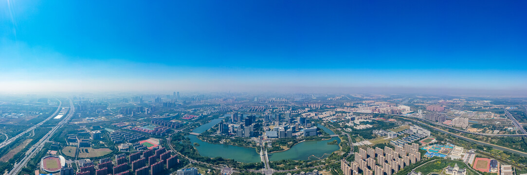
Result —
<path fill-rule="evenodd" d="M 227 115 L 225 115 L 227 116 Z M 221 122 L 223 119 L 214 119 L 209 123 L 203 124 L 200 127 L 192 130 L 192 132 L 202 133 L 212 128 L 214 125 Z M 323 125 L 317 125 L 318 128 L 324 130 L 326 133 L 335 134 L 333 131 L 327 129 Z M 191 143 L 198 143 L 199 146 L 194 146 L 203 157 L 215 158 L 222 157 L 226 159 L 233 159 L 244 163 L 260 162 L 260 154 L 256 152 L 255 148 L 240 147 L 229 144 L 209 143 L 198 139 L 196 135 L 187 135 Z M 275 152 L 269 154 L 270 161 L 277 160 L 317 160 L 317 158 L 327 158 L 329 154 L 339 150 L 338 144 L 327 144 L 333 140 L 340 143 L 338 137 L 323 141 L 304 141 L 294 145 L 287 151 Z"/>

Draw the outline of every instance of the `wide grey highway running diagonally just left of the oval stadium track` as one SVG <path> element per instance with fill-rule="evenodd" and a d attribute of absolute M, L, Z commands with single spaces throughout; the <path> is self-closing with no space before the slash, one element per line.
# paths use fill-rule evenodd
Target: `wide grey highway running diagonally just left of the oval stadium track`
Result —
<path fill-rule="evenodd" d="M 59 107 L 58 109 L 61 109 L 61 108 Z M 57 112 L 58 111 L 60 110 L 57 110 Z M 51 129 L 50 132 L 46 133 L 44 137 L 42 137 L 42 139 L 40 139 L 37 143 L 32 145 L 32 147 L 29 150 L 27 150 L 24 158 L 20 162 L 16 162 L 13 169 L 9 171 L 9 175 L 18 174 L 18 172 L 20 172 L 20 170 L 26 166 L 27 162 L 30 161 L 35 156 L 36 153 L 42 150 L 42 148 L 44 147 L 44 144 L 48 142 L 48 140 L 53 136 L 53 134 L 55 134 L 55 132 L 57 132 L 58 129 L 60 129 L 65 123 L 67 123 L 70 120 L 71 116 L 73 116 L 74 113 L 75 113 L 75 107 L 73 106 L 73 101 L 70 100 L 70 111 L 68 112 L 67 116 L 60 123 L 58 123 L 55 127 L 53 127 L 53 129 Z"/>

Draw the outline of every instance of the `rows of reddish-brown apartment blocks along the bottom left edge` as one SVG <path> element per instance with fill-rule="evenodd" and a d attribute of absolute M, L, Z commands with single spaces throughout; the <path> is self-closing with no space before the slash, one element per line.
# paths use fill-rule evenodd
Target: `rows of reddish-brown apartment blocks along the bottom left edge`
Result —
<path fill-rule="evenodd" d="M 164 148 L 134 152 L 128 159 L 126 158 L 126 154 L 123 153 L 115 155 L 115 161 L 111 158 L 101 159 L 97 164 L 90 160 L 79 161 L 80 168 L 77 175 L 154 175 L 174 167 L 179 162 L 176 155 L 171 155 L 171 152 Z M 73 172 L 64 169 L 64 172 L 61 170 L 61 175 L 73 175 Z"/>

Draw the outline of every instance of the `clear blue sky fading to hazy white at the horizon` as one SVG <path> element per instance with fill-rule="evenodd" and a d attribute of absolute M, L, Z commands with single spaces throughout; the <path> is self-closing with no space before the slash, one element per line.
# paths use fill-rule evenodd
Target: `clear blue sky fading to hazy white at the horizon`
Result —
<path fill-rule="evenodd" d="M 527 92 L 527 1 L 0 1 L 4 92 Z"/>

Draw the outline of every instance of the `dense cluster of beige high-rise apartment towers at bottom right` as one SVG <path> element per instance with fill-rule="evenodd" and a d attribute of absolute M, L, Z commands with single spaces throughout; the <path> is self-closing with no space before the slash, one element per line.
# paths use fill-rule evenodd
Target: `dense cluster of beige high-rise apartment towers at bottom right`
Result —
<path fill-rule="evenodd" d="M 416 143 L 405 144 L 403 147 L 396 145 L 394 148 L 395 150 L 389 147 L 384 147 L 384 150 L 359 148 L 359 151 L 355 152 L 355 161 L 348 164 L 345 160 L 341 160 L 340 169 L 344 175 L 357 175 L 361 172 L 364 175 L 384 173 L 391 175 L 412 163 L 421 161 L 419 145 Z"/>

